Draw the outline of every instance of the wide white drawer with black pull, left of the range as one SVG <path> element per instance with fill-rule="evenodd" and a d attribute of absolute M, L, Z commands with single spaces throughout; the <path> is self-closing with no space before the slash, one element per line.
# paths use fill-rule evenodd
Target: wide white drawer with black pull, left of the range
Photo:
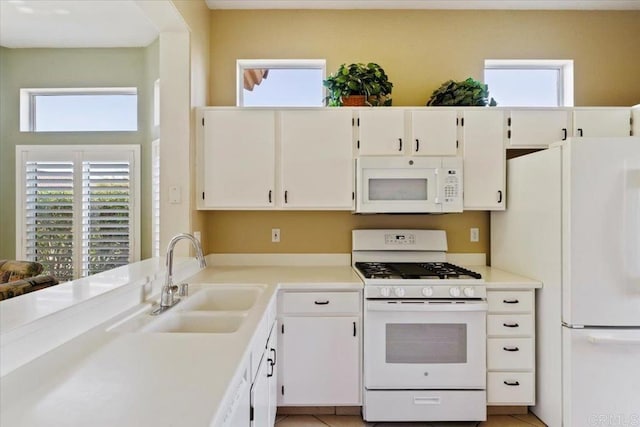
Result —
<path fill-rule="evenodd" d="M 282 313 L 360 313 L 359 292 L 285 292 Z"/>

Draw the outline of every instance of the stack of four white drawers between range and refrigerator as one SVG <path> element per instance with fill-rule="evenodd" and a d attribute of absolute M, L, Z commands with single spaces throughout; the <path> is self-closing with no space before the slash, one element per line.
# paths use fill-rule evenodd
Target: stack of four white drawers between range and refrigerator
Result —
<path fill-rule="evenodd" d="M 487 404 L 535 404 L 532 289 L 487 290 Z"/>

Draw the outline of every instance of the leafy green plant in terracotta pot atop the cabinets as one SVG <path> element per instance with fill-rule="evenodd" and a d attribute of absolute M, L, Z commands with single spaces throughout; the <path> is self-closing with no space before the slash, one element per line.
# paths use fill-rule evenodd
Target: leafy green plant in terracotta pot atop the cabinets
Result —
<path fill-rule="evenodd" d="M 382 67 L 373 62 L 342 64 L 322 84 L 328 91 L 325 102 L 329 106 L 391 105 L 393 83 Z M 354 96 L 358 98 L 351 99 Z"/>

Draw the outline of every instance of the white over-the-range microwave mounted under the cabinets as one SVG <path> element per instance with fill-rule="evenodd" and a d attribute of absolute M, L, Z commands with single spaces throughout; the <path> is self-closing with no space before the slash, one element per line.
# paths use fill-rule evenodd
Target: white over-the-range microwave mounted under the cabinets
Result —
<path fill-rule="evenodd" d="M 356 213 L 462 212 L 461 157 L 359 157 Z"/>

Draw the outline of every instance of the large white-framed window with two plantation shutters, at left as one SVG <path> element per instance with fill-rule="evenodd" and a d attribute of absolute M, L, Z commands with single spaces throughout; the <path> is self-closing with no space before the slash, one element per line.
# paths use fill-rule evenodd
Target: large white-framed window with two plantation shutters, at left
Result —
<path fill-rule="evenodd" d="M 60 281 L 140 257 L 140 149 L 17 146 L 17 254 Z"/>

